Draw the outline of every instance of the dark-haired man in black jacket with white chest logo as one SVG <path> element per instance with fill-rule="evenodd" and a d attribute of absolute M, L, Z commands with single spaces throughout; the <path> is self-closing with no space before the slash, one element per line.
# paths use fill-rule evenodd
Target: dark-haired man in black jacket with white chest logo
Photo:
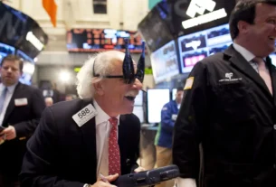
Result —
<path fill-rule="evenodd" d="M 233 44 L 186 80 L 173 145 L 179 187 L 276 186 L 276 1 L 239 1 L 229 25 Z"/>

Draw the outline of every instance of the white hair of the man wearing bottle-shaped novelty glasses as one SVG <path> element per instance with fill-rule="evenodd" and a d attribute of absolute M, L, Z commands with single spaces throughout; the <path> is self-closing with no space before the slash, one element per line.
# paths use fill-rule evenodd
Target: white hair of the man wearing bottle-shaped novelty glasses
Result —
<path fill-rule="evenodd" d="M 79 97 L 82 99 L 93 98 L 95 94 L 93 84 L 99 82 L 102 76 L 110 74 L 114 66 L 112 61 L 123 61 L 124 55 L 125 54 L 120 51 L 105 51 L 91 56 L 77 74 L 77 91 Z M 93 66 L 95 72 L 93 72 Z M 94 74 L 99 74 L 100 77 L 94 77 Z"/>

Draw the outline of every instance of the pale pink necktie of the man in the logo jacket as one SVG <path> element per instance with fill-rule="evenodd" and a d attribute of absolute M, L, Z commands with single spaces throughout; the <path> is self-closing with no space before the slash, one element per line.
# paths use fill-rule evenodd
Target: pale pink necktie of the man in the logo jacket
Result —
<path fill-rule="evenodd" d="M 269 70 L 267 70 L 267 68 L 265 66 L 265 62 L 262 60 L 262 58 L 254 58 L 253 61 L 257 62 L 259 74 L 262 77 L 262 79 L 264 80 L 267 88 L 270 90 L 270 92 L 272 94 L 271 75 L 270 75 Z"/>

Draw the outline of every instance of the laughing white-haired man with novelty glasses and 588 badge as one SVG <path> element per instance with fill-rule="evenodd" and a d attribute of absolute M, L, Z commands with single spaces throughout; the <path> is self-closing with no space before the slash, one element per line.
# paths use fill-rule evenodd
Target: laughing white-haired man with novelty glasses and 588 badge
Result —
<path fill-rule="evenodd" d="M 123 69 L 131 66 L 133 72 Z M 43 112 L 27 145 L 23 187 L 112 187 L 119 174 L 144 171 L 137 164 L 140 122 L 132 114 L 142 89 L 138 72 L 120 51 L 87 61 L 77 75 L 80 98 Z"/>

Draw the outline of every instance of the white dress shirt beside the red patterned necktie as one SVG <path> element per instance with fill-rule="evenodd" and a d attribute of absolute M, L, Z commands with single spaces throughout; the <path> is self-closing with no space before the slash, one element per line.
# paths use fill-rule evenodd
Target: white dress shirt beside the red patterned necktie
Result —
<path fill-rule="evenodd" d="M 93 101 L 94 108 L 98 112 L 95 117 L 96 123 L 96 145 L 97 145 L 97 178 L 102 173 L 104 176 L 109 175 L 109 132 L 111 124 L 109 123 L 109 115 L 107 115 L 98 105 Z M 119 123 L 119 116 L 116 117 Z M 119 124 L 118 124 L 119 125 Z"/>

